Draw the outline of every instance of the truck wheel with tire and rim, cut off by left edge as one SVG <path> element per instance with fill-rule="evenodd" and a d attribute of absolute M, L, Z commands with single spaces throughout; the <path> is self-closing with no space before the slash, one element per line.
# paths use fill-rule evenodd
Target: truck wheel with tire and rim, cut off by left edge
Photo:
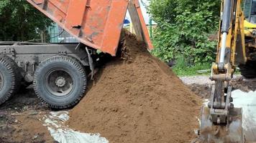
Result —
<path fill-rule="evenodd" d="M 6 102 L 19 89 L 18 66 L 9 56 L 0 55 L 0 104 Z"/>

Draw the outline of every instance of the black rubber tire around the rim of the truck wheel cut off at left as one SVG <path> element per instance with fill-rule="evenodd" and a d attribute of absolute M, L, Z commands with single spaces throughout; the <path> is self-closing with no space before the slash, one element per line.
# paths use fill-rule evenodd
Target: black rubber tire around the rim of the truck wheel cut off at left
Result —
<path fill-rule="evenodd" d="M 9 85 L 7 85 L 6 87 L 8 88 L 7 92 L 0 92 L 0 104 L 3 104 L 15 93 L 17 93 L 21 82 L 21 76 L 19 76 L 19 67 L 17 66 L 16 62 L 9 56 L 0 54 L 0 66 L 4 66 L 6 68 L 7 74 L 9 74 L 4 74 L 3 76 L 10 77 L 9 79 L 7 79 L 10 82 Z"/>

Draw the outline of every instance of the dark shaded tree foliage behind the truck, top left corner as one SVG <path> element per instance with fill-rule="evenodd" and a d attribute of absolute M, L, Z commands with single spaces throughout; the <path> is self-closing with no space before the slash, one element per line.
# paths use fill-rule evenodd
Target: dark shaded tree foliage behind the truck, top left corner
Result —
<path fill-rule="evenodd" d="M 0 41 L 39 39 L 51 22 L 26 0 L 0 1 Z"/>

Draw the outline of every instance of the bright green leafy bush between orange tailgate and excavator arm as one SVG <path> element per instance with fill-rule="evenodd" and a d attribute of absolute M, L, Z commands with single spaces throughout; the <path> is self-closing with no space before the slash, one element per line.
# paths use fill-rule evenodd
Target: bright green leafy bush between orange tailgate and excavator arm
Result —
<path fill-rule="evenodd" d="M 182 56 L 188 64 L 214 60 L 216 41 L 209 34 L 219 26 L 219 0 L 151 0 L 157 22 L 153 54 L 168 61 Z"/>

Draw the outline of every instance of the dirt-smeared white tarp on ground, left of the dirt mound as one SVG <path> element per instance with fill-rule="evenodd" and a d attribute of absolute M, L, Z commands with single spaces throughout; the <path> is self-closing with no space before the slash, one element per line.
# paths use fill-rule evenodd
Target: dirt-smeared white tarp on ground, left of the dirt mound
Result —
<path fill-rule="evenodd" d="M 65 125 L 68 119 L 68 112 L 50 112 L 42 121 L 53 139 L 60 143 L 109 143 L 100 134 L 82 133 L 70 129 Z"/>

